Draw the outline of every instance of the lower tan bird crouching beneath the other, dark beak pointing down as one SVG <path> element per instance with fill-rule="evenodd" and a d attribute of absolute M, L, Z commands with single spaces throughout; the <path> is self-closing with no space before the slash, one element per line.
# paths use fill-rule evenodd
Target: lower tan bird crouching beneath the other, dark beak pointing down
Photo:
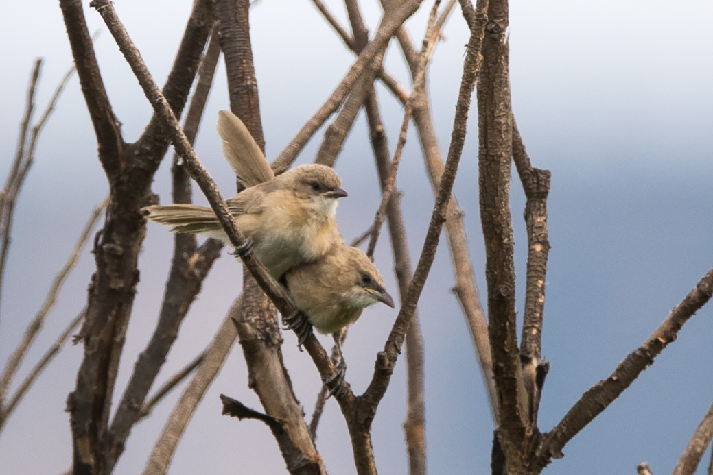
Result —
<path fill-rule="evenodd" d="M 339 364 L 327 380 L 333 395 L 342 386 L 347 371 L 342 330 L 375 303 L 394 308 L 394 299 L 384 288 L 384 279 L 371 259 L 361 249 L 343 242 L 317 261 L 292 268 L 285 273 L 284 282 L 297 311 L 287 318 L 283 315 L 282 323 L 285 329 L 297 333 L 297 344 L 301 346 L 309 338 L 312 328 L 334 338 Z"/>

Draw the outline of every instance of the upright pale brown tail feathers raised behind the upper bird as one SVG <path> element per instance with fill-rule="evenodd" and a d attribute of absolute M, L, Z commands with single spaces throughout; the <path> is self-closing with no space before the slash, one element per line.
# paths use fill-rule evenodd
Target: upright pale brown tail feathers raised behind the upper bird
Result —
<path fill-rule="evenodd" d="M 235 114 L 220 110 L 217 130 L 222 139 L 223 154 L 245 187 L 254 187 L 275 178 L 262 150 Z"/>

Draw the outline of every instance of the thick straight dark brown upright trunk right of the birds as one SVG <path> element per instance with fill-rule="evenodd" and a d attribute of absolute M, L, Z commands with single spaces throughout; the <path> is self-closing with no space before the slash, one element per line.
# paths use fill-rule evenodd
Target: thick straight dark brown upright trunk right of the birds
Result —
<path fill-rule="evenodd" d="M 488 334 L 498 395 L 494 443 L 500 444 L 504 456 L 503 473 L 520 474 L 523 473 L 527 404 L 515 320 L 509 196 L 513 127 L 507 28 L 507 0 L 491 1 L 483 40 L 483 71 L 478 80 L 478 185 L 486 249 Z"/>

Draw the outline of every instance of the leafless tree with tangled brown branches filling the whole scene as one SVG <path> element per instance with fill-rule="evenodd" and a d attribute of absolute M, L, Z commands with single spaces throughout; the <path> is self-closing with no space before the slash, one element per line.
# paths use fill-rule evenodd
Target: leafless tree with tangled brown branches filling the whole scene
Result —
<path fill-rule="evenodd" d="M 495 423 L 491 470 L 493 474 L 538 474 L 553 459 L 563 456 L 565 445 L 654 362 L 655 357 L 675 340 L 684 323 L 713 296 L 711 269 L 671 310 L 660 327 L 642 345 L 632 350 L 609 377 L 596 382 L 573 407 L 563 410 L 564 415 L 555 427 L 540 430 L 538 411 L 545 376 L 550 370 L 550 363 L 543 359 L 542 335 L 550 252 L 547 204 L 551 174 L 533 165 L 515 123 L 509 73 L 508 1 L 478 0 L 473 5 L 470 0 L 461 0 L 456 5 L 455 0 L 444 4 L 435 0 L 425 6 L 421 0 L 382 0 L 384 14 L 371 38 L 358 1 L 344 1 L 351 33 L 339 24 L 337 17 L 322 1 L 313 0 L 312 3 L 356 58 L 324 103 L 277 155 L 272 168 L 276 174 L 289 168 L 307 142 L 330 120 L 329 125 L 324 127 L 314 161 L 334 166 L 359 112 L 364 108 L 369 137 L 361 138 L 365 142 L 368 139 L 371 144 L 381 196 L 379 206 L 369 212 L 373 212 L 373 223 L 358 241 L 368 241 L 367 254 L 373 258 L 382 224 L 387 222 L 401 296 L 401 307 L 384 340 L 383 349 L 374 355 L 374 371 L 366 390 L 361 394 L 354 392 L 348 382 L 349 375 L 347 381 L 337 380 L 339 387 L 329 387 L 336 371 L 334 354 L 329 355 L 319 340 L 310 335 L 304 348 L 324 385 L 317 395 L 316 409 L 308 423 L 284 363 L 283 340 L 277 317 L 277 313 L 292 315 L 296 310 L 294 304 L 287 291 L 250 253 L 250 246 L 228 211 L 217 184 L 193 150 L 210 90 L 214 83 L 221 83 L 214 80 L 214 75 L 222 53 L 230 110 L 245 123 L 257 145 L 265 152 L 260 95 L 251 45 L 250 1 L 195 0 L 173 68 L 163 88 L 159 88 L 131 40 L 132 32 L 122 24 L 111 1 L 94 0 L 90 4 L 93 11 L 85 12 L 78 0 L 60 0 L 76 72 L 96 135 L 98 160 L 108 182 L 109 197 L 106 203 L 95 209 L 81 231 L 76 248 L 58 273 L 46 302 L 31 320 L 24 338 L 6 362 L 0 375 L 0 431 L 43 368 L 81 323 L 75 343 L 83 345 L 83 359 L 77 370 L 76 385 L 67 400 L 73 447 L 70 473 L 111 474 L 135 425 L 149 417 L 165 395 L 189 380 L 165 422 L 163 432 L 155 441 L 145 466 L 145 474 L 165 474 L 188 422 L 237 339 L 247 366 L 247 386 L 255 392 L 262 408 L 247 407 L 226 395 L 221 397 L 224 414 L 265 423 L 275 437 L 289 473 L 326 474 L 328 467 L 319 454 L 316 440 L 322 410 L 329 403 L 327 389 L 332 390 L 349 432 L 356 473 L 376 474 L 377 454 L 372 442 L 372 426 L 377 409 L 391 385 L 399 355 L 406 345 L 406 450 L 410 473 L 426 474 L 424 335 L 417 307 L 436 257 L 441 231 L 445 228 L 456 281 L 453 290 L 471 334 L 478 360 L 477 370 L 482 375 L 490 403 L 490 408 L 483 410 L 492 414 Z M 423 37 L 419 38 L 421 47 L 416 49 L 405 22 L 419 8 L 429 9 L 429 16 Z M 451 11 L 458 10 L 453 21 L 467 24 L 469 38 L 464 51 L 450 141 L 447 148 L 441 149 L 431 117 L 432 85 L 427 78 L 446 20 Z M 88 14 L 101 16 L 138 80 L 145 100 L 153 108 L 153 116 L 135 142 L 125 142 L 120 118 L 116 117 L 106 92 L 86 25 Z M 386 71 L 384 55 L 392 40 L 398 43 L 410 72 L 410 90 Z M 71 74 L 68 73 L 61 81 L 46 112 L 31 130 L 29 124 L 40 64 L 39 61 L 36 63 L 31 76 L 16 157 L 6 187 L 0 194 L 0 290 L 6 278 L 4 271 L 10 249 L 14 204 L 33 162 L 39 132 Z M 403 107 L 393 152 L 386 137 L 385 119 L 381 115 L 382 99 L 377 93 L 377 85 L 384 85 L 394 96 L 393 100 Z M 473 130 L 468 130 L 473 90 L 476 91 L 478 117 L 478 193 L 486 255 L 486 293 L 483 299 L 486 310 L 479 303 L 463 213 L 453 194 L 466 137 L 468 132 L 476 135 Z M 135 100 L 144 98 L 137 97 Z M 188 110 L 181 126 L 179 119 L 187 104 Z M 409 246 L 407 230 L 410 232 L 410 229 L 401 209 L 398 188 L 399 170 L 403 168 L 401 161 L 410 126 L 416 130 L 434 192 L 433 209 L 425 224 L 425 238 L 415 267 L 412 267 L 410 254 L 414 243 Z M 158 385 L 160 370 L 178 338 L 183 321 L 223 246 L 213 239 L 199 246 L 195 236 L 175 235 L 173 257 L 155 330 L 136 357 L 126 385 L 116 387 L 120 361 L 122 357 L 130 357 L 123 355 L 123 346 L 133 315 L 140 275 L 138 256 L 145 238 L 145 219 L 140 209 L 157 202 L 152 182 L 170 145 L 175 150 L 171 167 L 173 202 L 190 203 L 193 199 L 191 179 L 198 184 L 230 238 L 230 254 L 242 261 L 244 276 L 242 291 L 235 289 L 235 302 L 220 328 L 217 328 L 210 345 L 150 395 L 151 388 Z M 513 163 L 526 199 L 524 225 L 528 239 L 525 302 L 519 340 L 510 196 Z M 96 233 L 92 249 L 96 271 L 89 282 L 86 302 L 77 306 L 84 306 L 84 309 L 68 323 L 19 387 L 10 392 L 11 382 L 28 348 L 102 212 L 104 221 Z M 386 266 L 379 261 L 376 263 L 384 272 Z M 116 404 L 115 393 L 121 394 Z M 113 406 L 116 408 L 113 409 Z M 692 474 L 697 468 L 713 437 L 711 412 L 709 410 L 699 424 L 674 473 Z M 345 452 L 348 450 L 344 448 Z M 58 470 L 62 468 L 58 467 Z M 640 473 L 651 473 L 647 464 L 640 465 L 638 470 Z"/>

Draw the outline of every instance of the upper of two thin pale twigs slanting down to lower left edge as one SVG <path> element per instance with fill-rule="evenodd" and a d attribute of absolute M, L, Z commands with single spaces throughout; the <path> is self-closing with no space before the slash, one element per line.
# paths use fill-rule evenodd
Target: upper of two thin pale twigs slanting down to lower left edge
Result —
<path fill-rule="evenodd" d="M 22 340 L 17 345 L 17 348 L 15 348 L 15 350 L 12 352 L 12 355 L 10 355 L 9 360 L 5 366 L 5 370 L 2 373 L 2 377 L 0 377 L 0 401 L 4 400 L 5 394 L 8 390 L 10 382 L 17 368 L 19 367 L 20 363 L 27 354 L 27 350 L 29 349 L 31 343 L 34 341 L 35 337 L 37 336 L 37 333 L 39 333 L 39 330 L 42 328 L 42 325 L 45 319 L 47 318 L 48 313 L 50 312 L 50 310 L 52 310 L 63 283 L 66 281 L 66 278 L 69 276 L 69 273 L 72 271 L 74 266 L 76 266 L 76 263 L 79 260 L 79 254 L 81 253 L 82 248 L 86 244 L 86 241 L 88 241 L 89 236 L 91 236 L 91 231 L 92 229 L 94 229 L 94 226 L 96 225 L 99 216 L 101 216 L 102 212 L 106 208 L 107 201 L 108 200 L 105 199 L 103 202 L 101 202 L 101 204 L 98 204 L 92 210 L 91 214 L 89 215 L 89 219 L 84 225 L 84 229 L 82 230 L 79 236 L 79 239 L 77 239 L 76 244 L 74 245 L 74 249 L 69 256 L 69 259 L 64 264 L 61 271 L 59 271 L 55 276 L 44 303 L 42 304 L 40 310 L 36 313 L 35 317 L 30 322 L 30 324 L 27 325 L 27 329 L 22 335 Z"/>

